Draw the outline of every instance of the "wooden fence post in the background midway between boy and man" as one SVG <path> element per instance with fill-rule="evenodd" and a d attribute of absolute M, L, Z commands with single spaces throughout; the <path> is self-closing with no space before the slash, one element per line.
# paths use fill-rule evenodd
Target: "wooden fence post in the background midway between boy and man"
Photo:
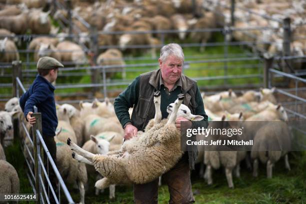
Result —
<path fill-rule="evenodd" d="M 97 30 L 95 26 L 90 27 L 91 30 L 91 44 L 90 44 L 90 49 L 93 54 L 92 57 L 92 65 L 96 65 L 96 59 L 98 55 L 98 36 L 97 36 Z M 100 69 L 91 69 L 91 83 L 98 83 L 100 78 Z M 98 91 L 98 87 L 93 87 L 92 88 L 92 94 L 94 95 L 96 91 Z"/>

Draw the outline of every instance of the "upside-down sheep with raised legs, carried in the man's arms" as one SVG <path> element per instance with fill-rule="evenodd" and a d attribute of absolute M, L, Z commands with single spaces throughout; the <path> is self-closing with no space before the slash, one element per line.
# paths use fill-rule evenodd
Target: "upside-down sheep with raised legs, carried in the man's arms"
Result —
<path fill-rule="evenodd" d="M 77 146 L 70 139 L 72 156 L 94 168 L 104 176 L 96 181 L 95 187 L 106 188 L 110 184 L 131 184 L 149 182 L 172 168 L 182 156 L 180 132 L 174 122 L 177 116 L 189 120 L 201 120 L 200 115 L 191 114 L 189 108 L 181 104 L 183 94 L 167 107 L 169 116 L 161 120 L 160 92 L 154 92 L 155 116 L 137 136 L 125 141 L 118 151 L 105 155 L 92 154 Z"/>

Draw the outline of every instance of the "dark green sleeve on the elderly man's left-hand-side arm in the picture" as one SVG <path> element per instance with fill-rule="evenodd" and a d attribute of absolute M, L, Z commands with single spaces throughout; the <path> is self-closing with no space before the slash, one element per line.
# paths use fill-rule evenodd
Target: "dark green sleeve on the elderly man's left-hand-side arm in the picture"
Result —
<path fill-rule="evenodd" d="M 138 94 L 139 76 L 136 77 L 114 100 L 114 110 L 123 128 L 126 124 L 131 123 L 128 108 L 133 107 L 133 105 L 137 103 Z"/>

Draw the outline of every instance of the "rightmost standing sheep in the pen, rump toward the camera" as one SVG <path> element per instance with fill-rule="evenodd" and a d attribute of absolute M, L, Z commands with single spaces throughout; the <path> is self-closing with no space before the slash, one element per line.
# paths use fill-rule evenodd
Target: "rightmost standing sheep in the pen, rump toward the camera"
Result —
<path fill-rule="evenodd" d="M 250 153 L 253 160 L 253 176 L 258 175 L 258 159 L 266 163 L 266 176 L 272 177 L 272 167 L 284 156 L 285 167 L 290 170 L 287 151 L 290 148 L 291 136 L 287 124 L 283 121 L 268 122 L 256 132 Z"/>

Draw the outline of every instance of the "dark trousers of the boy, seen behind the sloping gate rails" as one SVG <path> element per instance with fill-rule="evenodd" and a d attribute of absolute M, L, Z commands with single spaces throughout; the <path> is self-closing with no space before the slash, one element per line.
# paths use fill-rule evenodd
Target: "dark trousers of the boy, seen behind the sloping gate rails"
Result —
<path fill-rule="evenodd" d="M 31 139 L 33 139 L 33 136 L 32 136 L 32 127 L 30 127 L 30 137 Z M 56 165 L 56 143 L 54 141 L 54 136 L 50 136 L 50 135 L 45 135 L 45 134 L 42 134 L 42 138 L 43 138 L 43 141 L 46 145 L 46 147 L 48 148 L 48 151 Z M 51 166 L 51 163 L 50 161 L 48 161 L 47 159 L 47 155 L 45 153 L 45 151 L 43 151 L 43 165 L 44 165 L 44 168 L 46 170 L 46 172 L 48 173 L 48 177 L 50 179 L 50 182 L 53 186 L 53 189 L 56 193 L 56 189 L 57 189 L 57 177 L 55 175 L 55 172 Z M 48 161 L 48 162 L 47 162 Z M 42 170 L 41 170 L 42 171 Z M 50 203 L 55 203 L 55 200 L 54 200 L 54 197 L 53 197 L 53 194 L 51 192 L 51 190 L 49 189 L 49 185 L 47 183 L 47 180 L 45 179 L 44 180 L 44 186 L 45 186 L 45 189 L 46 189 L 46 192 L 47 194 L 49 195 L 49 201 Z"/>

